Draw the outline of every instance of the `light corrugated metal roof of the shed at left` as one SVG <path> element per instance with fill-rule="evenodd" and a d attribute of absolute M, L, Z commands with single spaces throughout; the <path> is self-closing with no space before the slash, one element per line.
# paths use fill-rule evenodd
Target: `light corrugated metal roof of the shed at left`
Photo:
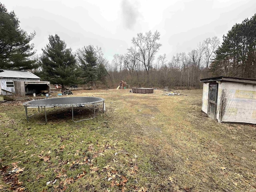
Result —
<path fill-rule="evenodd" d="M 40 79 L 40 77 L 32 74 L 29 71 L 16 71 L 16 70 L 0 70 L 0 78 L 30 78 L 30 79 Z"/>

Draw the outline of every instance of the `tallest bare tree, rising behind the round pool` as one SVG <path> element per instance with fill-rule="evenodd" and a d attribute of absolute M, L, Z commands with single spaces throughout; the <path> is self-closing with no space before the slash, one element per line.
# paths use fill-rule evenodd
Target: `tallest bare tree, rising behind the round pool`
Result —
<path fill-rule="evenodd" d="M 154 34 L 149 31 L 146 32 L 145 35 L 142 33 L 138 33 L 136 38 L 132 38 L 132 44 L 138 48 L 138 60 L 144 64 L 145 70 L 148 76 L 148 85 L 149 85 L 149 74 L 152 62 L 154 60 L 154 55 L 158 52 L 160 44 L 158 41 L 160 40 L 160 33 L 158 31 L 154 32 Z"/>

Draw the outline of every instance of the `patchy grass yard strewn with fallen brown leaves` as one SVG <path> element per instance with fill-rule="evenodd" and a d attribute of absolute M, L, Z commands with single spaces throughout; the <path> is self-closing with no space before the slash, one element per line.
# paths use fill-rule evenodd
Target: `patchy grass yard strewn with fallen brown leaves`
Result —
<path fill-rule="evenodd" d="M 256 191 L 255 126 L 215 122 L 202 90 L 178 92 L 74 91 L 104 98 L 106 113 L 74 123 L 48 108 L 46 125 L 43 113 L 26 122 L 25 101 L 0 103 L 0 191 Z"/>

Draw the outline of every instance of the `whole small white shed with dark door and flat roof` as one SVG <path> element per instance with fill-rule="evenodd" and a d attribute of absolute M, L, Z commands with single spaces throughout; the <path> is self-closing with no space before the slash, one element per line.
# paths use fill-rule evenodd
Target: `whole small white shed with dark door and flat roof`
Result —
<path fill-rule="evenodd" d="M 256 79 L 214 77 L 203 82 L 202 111 L 219 122 L 256 124 Z"/>

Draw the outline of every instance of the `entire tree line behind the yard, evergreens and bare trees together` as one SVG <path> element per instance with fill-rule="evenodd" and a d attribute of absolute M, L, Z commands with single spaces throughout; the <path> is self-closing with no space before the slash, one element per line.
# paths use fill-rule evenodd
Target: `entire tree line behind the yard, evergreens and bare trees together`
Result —
<path fill-rule="evenodd" d="M 223 42 L 206 38 L 188 53 L 177 53 L 167 60 L 157 56 L 162 46 L 160 33 L 138 33 L 125 54 L 114 54 L 112 62 L 102 49 L 87 45 L 72 52 L 57 34 L 49 35 L 42 54 L 35 56 L 31 40 L 20 28 L 15 13 L 0 3 L 0 68 L 30 70 L 41 80 L 62 87 L 87 84 L 115 88 L 120 80 L 138 87 L 200 87 L 200 79 L 211 76 L 256 78 L 256 15 L 235 24 Z"/>

